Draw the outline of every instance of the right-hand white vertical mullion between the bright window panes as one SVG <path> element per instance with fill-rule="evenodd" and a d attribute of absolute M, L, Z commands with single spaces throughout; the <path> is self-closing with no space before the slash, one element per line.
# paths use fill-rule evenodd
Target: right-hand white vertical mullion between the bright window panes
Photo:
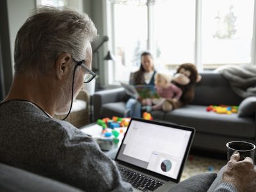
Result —
<path fill-rule="evenodd" d="M 198 71 L 202 72 L 202 0 L 196 0 L 195 10 L 195 65 Z"/>

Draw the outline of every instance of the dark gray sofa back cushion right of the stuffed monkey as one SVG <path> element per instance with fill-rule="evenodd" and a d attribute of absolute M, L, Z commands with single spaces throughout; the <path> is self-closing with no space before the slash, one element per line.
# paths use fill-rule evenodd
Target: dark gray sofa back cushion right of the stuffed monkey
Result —
<path fill-rule="evenodd" d="M 243 100 L 231 88 L 230 83 L 219 73 L 201 73 L 202 79 L 195 87 L 195 99 L 191 104 L 239 105 Z"/>

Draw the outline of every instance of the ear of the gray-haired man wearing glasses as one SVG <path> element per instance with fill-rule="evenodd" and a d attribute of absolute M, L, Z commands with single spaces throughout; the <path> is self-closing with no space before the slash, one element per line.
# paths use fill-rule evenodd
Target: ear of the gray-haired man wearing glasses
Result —
<path fill-rule="evenodd" d="M 62 79 L 68 72 L 68 66 L 72 60 L 71 55 L 68 53 L 62 53 L 58 56 L 54 63 L 55 74 L 58 79 Z"/>

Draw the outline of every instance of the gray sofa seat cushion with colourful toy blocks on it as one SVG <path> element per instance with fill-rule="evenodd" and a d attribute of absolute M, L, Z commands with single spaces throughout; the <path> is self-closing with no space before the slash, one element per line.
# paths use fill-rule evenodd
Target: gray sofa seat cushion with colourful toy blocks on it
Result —
<path fill-rule="evenodd" d="M 206 108 L 207 106 L 187 105 L 167 113 L 164 120 L 195 127 L 197 132 L 254 138 L 254 118 L 240 118 L 236 113 L 227 115 L 207 112 Z"/>

